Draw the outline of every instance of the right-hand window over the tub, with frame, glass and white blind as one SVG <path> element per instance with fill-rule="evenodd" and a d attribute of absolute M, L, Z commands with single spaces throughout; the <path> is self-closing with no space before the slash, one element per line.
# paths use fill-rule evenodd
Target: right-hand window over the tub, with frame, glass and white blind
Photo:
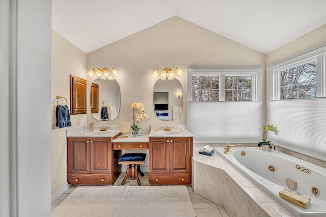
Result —
<path fill-rule="evenodd" d="M 279 130 L 268 138 L 326 161 L 326 45 L 268 66 L 267 73 L 266 123 Z"/>

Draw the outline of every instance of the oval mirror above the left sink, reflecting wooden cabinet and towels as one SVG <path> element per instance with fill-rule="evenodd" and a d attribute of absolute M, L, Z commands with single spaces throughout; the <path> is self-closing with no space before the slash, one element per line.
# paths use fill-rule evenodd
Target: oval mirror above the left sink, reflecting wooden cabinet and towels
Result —
<path fill-rule="evenodd" d="M 120 111 L 120 87 L 116 80 L 97 78 L 91 86 L 91 112 L 97 120 L 114 120 Z"/>

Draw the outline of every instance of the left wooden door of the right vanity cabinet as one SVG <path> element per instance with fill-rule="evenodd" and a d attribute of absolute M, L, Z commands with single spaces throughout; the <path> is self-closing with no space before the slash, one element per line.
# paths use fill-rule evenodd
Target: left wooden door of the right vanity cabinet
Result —
<path fill-rule="evenodd" d="M 149 172 L 169 173 L 169 138 L 150 138 L 149 145 Z"/>

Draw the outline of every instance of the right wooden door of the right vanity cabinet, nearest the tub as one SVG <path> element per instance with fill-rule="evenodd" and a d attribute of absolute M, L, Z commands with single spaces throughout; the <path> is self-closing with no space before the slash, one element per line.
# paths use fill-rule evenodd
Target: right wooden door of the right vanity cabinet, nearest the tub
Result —
<path fill-rule="evenodd" d="M 191 147 L 190 138 L 170 139 L 170 172 L 188 173 L 190 172 Z"/>

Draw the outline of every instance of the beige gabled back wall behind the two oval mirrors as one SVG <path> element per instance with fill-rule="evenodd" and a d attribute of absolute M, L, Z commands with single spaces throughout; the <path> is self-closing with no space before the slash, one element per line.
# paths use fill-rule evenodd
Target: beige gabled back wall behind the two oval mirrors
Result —
<path fill-rule="evenodd" d="M 87 70 L 99 66 L 114 66 L 119 71 L 116 80 L 121 88 L 121 110 L 119 116 L 110 121 L 117 125 L 126 120 L 132 122 L 133 102 L 141 102 L 150 117 L 141 122 L 141 133 L 147 134 L 150 125 L 165 125 L 156 118 L 153 108 L 153 89 L 158 78 L 151 76 L 158 67 L 177 66 L 184 74 L 176 78 L 183 87 L 184 111 L 181 118 L 169 125 L 186 124 L 186 69 L 187 67 L 214 66 L 260 66 L 264 67 L 264 54 L 231 41 L 223 36 L 188 22 L 172 17 L 139 33 L 121 39 L 87 54 Z M 88 78 L 88 92 L 93 79 Z M 90 104 L 88 100 L 88 105 Z M 88 109 L 88 121 L 97 121 Z M 107 122 L 105 124 L 108 124 Z"/>

